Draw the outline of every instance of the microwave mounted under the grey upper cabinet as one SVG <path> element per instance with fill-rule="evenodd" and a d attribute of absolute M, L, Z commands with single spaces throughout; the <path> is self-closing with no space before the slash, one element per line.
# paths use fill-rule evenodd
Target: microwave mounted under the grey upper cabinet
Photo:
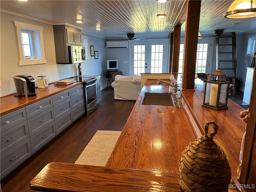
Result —
<path fill-rule="evenodd" d="M 68 46 L 68 62 L 57 62 L 58 64 L 74 64 L 85 62 L 85 48 L 82 46 Z"/>

